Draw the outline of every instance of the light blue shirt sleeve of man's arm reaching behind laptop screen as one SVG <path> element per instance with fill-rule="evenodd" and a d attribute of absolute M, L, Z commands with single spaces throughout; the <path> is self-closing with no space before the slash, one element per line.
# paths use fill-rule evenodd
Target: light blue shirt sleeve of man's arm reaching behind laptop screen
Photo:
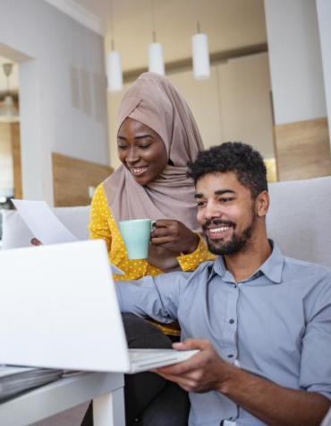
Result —
<path fill-rule="evenodd" d="M 122 312 L 152 317 L 170 323 L 177 318 L 179 295 L 185 283 L 184 273 L 145 276 L 137 281 L 116 282 L 115 289 Z"/>

